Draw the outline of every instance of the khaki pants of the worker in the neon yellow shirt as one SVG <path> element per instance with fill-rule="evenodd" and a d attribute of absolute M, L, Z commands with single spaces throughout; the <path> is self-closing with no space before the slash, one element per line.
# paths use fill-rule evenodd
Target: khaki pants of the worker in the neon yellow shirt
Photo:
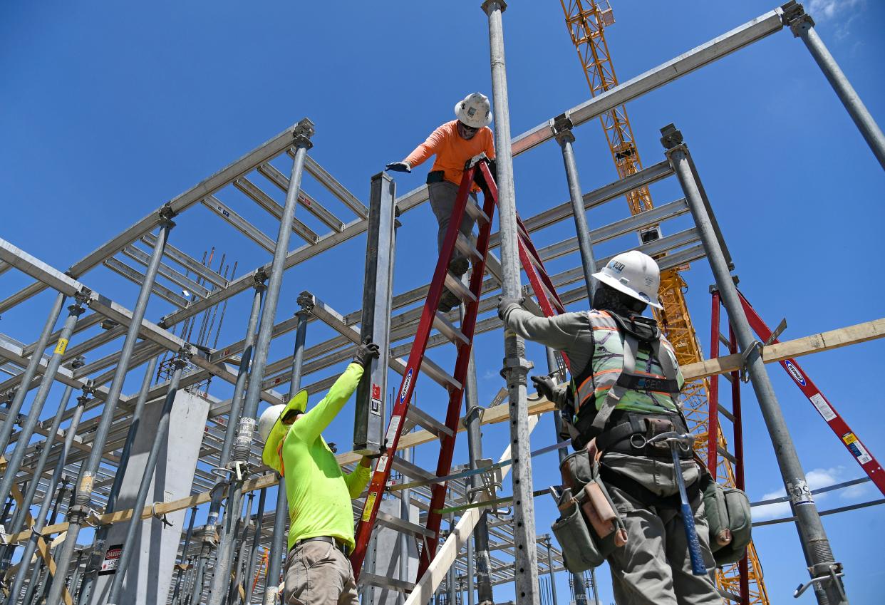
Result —
<path fill-rule="evenodd" d="M 286 557 L 286 605 L 358 605 L 350 559 L 328 542 L 297 544 Z"/>

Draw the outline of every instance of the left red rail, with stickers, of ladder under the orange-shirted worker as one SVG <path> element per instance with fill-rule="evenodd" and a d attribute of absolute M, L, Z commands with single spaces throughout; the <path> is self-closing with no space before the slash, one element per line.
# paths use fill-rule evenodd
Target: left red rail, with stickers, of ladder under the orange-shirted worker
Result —
<path fill-rule="evenodd" d="M 409 402 L 412 399 L 415 383 L 418 381 L 418 374 L 427 348 L 427 340 L 430 338 L 430 331 L 433 329 L 436 305 L 439 304 L 440 297 L 443 295 L 443 282 L 446 274 L 449 272 L 449 260 L 455 249 L 458 226 L 461 225 L 461 218 L 464 216 L 467 194 L 473 184 L 474 172 L 475 168 L 466 170 L 464 177 L 461 179 L 458 196 L 455 200 L 455 208 L 449 223 L 449 231 L 443 242 L 443 250 L 440 252 L 440 257 L 436 261 L 434 279 L 430 282 L 427 300 L 424 302 L 424 310 L 421 311 L 418 330 L 415 333 L 415 340 L 412 342 L 412 350 L 409 353 L 409 360 L 405 366 L 399 389 L 396 391 L 396 402 L 394 403 L 388 430 L 385 434 L 386 448 L 389 451 L 389 455 L 386 454 L 378 459 L 369 483 L 369 491 L 366 494 L 363 512 L 359 517 L 355 536 L 356 548 L 354 548 L 353 553 L 350 555 L 350 564 L 353 567 L 355 578 L 359 577 L 359 571 L 366 558 L 366 548 L 369 539 L 372 537 L 375 518 L 378 516 L 378 509 L 381 508 L 381 498 L 390 478 L 390 471 L 393 467 L 390 460 L 392 456 L 396 455 L 396 445 L 399 443 L 399 437 L 405 424 L 405 414 L 409 409 Z"/>

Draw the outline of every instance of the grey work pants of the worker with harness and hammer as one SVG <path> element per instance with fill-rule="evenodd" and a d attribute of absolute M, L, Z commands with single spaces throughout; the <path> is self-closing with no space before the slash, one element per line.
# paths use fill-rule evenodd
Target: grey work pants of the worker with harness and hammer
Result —
<path fill-rule="evenodd" d="M 644 456 L 610 453 L 603 463 L 659 496 L 677 494 L 673 463 Z M 681 462 L 687 486 L 699 479 L 692 460 Z M 618 487 L 606 485 L 627 527 L 627 544 L 608 557 L 618 605 L 721 605 L 711 576 L 691 573 L 688 541 L 680 509 L 650 506 Z M 691 502 L 704 565 L 712 571 L 713 555 L 700 495 Z"/>

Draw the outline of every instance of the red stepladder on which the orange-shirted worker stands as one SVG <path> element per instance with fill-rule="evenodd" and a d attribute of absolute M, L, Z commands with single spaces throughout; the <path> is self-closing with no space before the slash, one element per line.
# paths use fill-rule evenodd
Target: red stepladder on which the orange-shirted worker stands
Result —
<path fill-rule="evenodd" d="M 482 188 L 483 204 L 479 206 L 470 198 L 470 189 L 476 182 Z M 409 412 L 409 403 L 412 392 L 418 380 L 421 364 L 424 361 L 427 341 L 430 332 L 434 328 L 445 334 L 456 347 L 458 347 L 458 359 L 455 362 L 455 371 L 452 376 L 443 380 L 448 385 L 449 408 L 445 417 L 446 431 L 440 432 L 440 456 L 436 464 L 436 477 L 445 477 L 451 468 L 451 459 L 455 451 L 455 436 L 458 434 L 458 422 L 461 414 L 461 400 L 464 394 L 464 381 L 467 374 L 467 364 L 470 359 L 470 350 L 473 347 L 473 330 L 476 326 L 476 316 L 479 311 L 479 301 L 482 290 L 482 280 L 486 269 L 486 257 L 489 252 L 489 237 L 491 234 L 492 217 L 497 205 L 497 185 L 489 170 L 489 159 L 481 154 L 473 157 L 465 166 L 464 177 L 458 188 L 458 197 L 455 200 L 455 208 L 449 222 L 449 231 L 443 242 L 443 250 L 436 262 L 434 278 L 430 282 L 427 291 L 427 300 L 424 302 L 424 310 L 412 342 L 412 351 L 405 366 L 403 380 L 399 390 L 396 391 L 393 411 L 385 438 L 386 453 L 378 459 L 378 464 L 372 474 L 369 491 L 366 495 L 366 503 L 359 517 L 356 531 L 356 547 L 350 555 L 350 563 L 353 565 L 354 574 L 358 577 L 363 561 L 366 558 L 366 548 L 372 537 L 375 520 L 378 517 L 378 509 L 381 506 L 381 498 L 388 487 L 390 471 L 395 463 L 403 462 L 396 457 L 396 447 L 399 443 L 406 415 Z M 473 217 L 480 226 L 480 234 L 476 240 L 476 247 L 463 234 L 458 231 L 461 218 L 464 213 Z M 564 312 L 562 301 L 559 300 L 553 282 L 547 272 L 544 271 L 541 258 L 538 256 L 535 246 L 528 237 L 526 227 L 517 217 L 519 233 L 519 260 L 527 272 L 528 280 L 535 291 L 538 303 L 546 316 Z M 465 286 L 461 280 L 449 272 L 449 262 L 455 249 L 473 261 L 473 272 L 470 282 Z M 436 310 L 443 295 L 443 287 L 458 295 L 465 305 L 464 319 L 460 327 L 452 325 L 445 314 Z M 429 364 L 428 364 L 429 365 Z M 437 371 L 438 369 L 435 369 Z M 408 474 L 406 472 L 406 474 Z M 431 488 L 430 509 L 427 513 L 427 523 L 419 532 L 424 541 L 424 548 L 418 569 L 418 577 L 424 575 L 427 567 L 433 560 L 436 547 L 439 542 L 440 524 L 442 515 L 438 512 L 443 508 L 446 494 L 445 482 L 436 482 Z"/>

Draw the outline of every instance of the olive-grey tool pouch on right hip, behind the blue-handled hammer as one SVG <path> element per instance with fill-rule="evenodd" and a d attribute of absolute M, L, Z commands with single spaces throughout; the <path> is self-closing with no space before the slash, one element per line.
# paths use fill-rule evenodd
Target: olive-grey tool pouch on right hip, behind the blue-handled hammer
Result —
<path fill-rule="evenodd" d="M 713 559 L 717 565 L 737 563 L 750 544 L 750 498 L 736 487 L 716 483 L 707 474 L 701 481 Z"/>

